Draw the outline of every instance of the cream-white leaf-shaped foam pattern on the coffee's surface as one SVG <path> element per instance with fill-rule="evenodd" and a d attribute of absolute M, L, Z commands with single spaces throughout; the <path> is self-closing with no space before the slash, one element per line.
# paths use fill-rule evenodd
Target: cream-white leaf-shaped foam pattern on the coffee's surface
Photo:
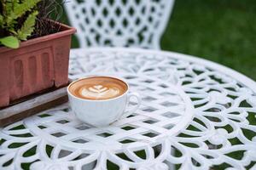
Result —
<path fill-rule="evenodd" d="M 102 85 L 81 88 L 80 94 L 90 99 L 109 99 L 119 94 L 119 88 L 108 88 Z"/>

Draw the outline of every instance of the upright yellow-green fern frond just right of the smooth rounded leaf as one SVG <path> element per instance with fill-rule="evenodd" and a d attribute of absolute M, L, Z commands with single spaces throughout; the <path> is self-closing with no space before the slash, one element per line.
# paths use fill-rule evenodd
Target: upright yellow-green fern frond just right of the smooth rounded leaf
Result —
<path fill-rule="evenodd" d="M 18 33 L 17 37 L 20 40 L 26 40 L 27 37 L 31 36 L 32 31 L 34 31 L 37 15 L 38 15 L 38 11 L 35 11 L 32 14 L 29 14 L 23 26 L 21 26 L 19 31 L 17 31 Z"/>

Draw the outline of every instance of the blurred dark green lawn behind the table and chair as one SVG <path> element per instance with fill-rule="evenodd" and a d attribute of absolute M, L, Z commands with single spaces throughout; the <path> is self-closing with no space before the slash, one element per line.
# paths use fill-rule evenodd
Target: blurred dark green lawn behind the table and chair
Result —
<path fill-rule="evenodd" d="M 62 20 L 69 25 L 67 15 Z M 75 37 L 72 47 L 79 47 Z M 215 61 L 256 81 L 256 1 L 176 0 L 161 48 Z"/>

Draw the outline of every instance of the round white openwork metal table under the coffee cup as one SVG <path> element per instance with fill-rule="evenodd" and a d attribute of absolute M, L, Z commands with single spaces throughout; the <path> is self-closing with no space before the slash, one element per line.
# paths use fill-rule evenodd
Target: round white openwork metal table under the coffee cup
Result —
<path fill-rule="evenodd" d="M 99 74 L 129 82 L 143 97 L 140 109 L 87 127 L 65 104 L 4 127 L 1 169 L 256 169 L 253 80 L 184 54 L 72 51 L 71 79 Z"/>

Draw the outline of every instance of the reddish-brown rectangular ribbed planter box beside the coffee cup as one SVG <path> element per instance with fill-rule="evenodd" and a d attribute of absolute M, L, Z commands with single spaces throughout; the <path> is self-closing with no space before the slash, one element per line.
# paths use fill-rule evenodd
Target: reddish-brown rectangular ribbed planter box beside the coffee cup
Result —
<path fill-rule="evenodd" d="M 59 23 L 59 32 L 0 48 L 0 108 L 30 94 L 67 85 L 74 28 Z"/>

